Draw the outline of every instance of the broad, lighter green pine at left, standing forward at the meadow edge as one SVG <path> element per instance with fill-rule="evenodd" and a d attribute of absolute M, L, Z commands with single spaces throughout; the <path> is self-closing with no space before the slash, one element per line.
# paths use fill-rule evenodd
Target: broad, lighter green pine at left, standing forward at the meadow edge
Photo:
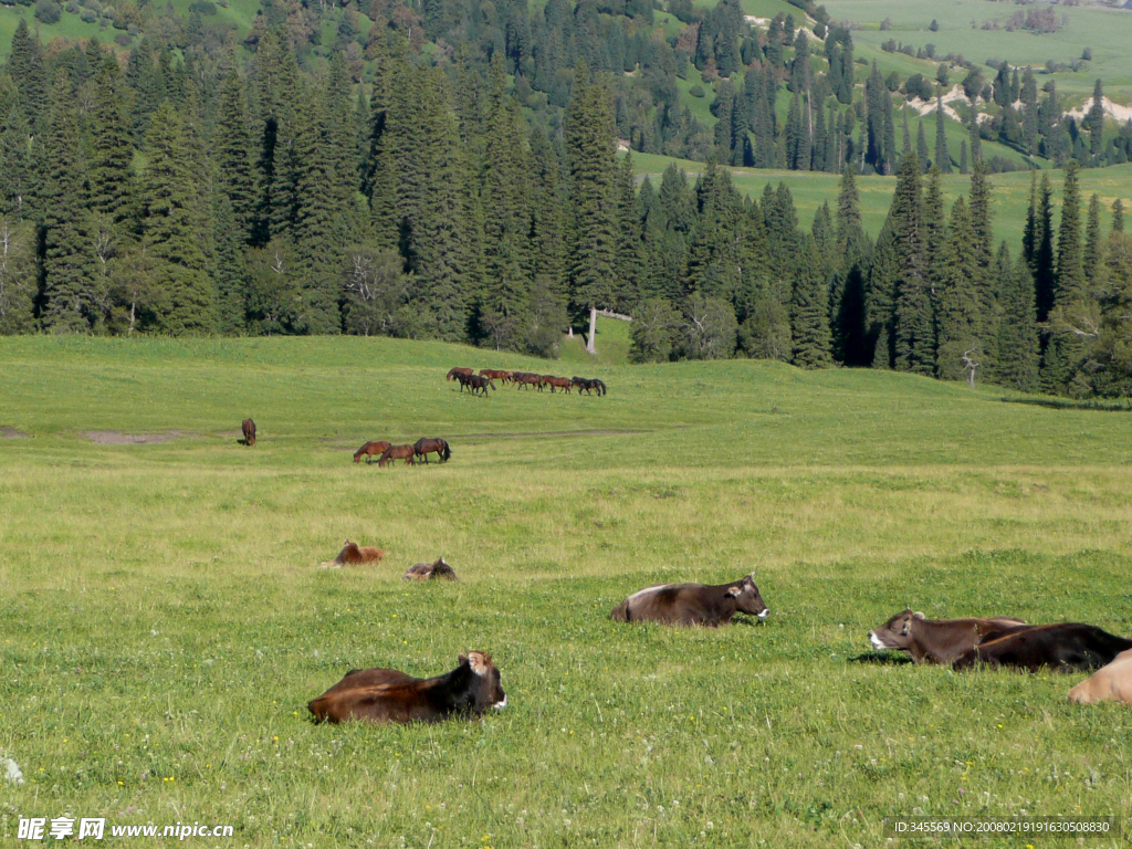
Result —
<path fill-rule="evenodd" d="M 166 101 L 149 122 L 142 198 L 160 326 L 172 335 L 216 329 L 216 291 L 203 249 L 208 216 L 197 194 L 194 158 L 183 122 Z"/>

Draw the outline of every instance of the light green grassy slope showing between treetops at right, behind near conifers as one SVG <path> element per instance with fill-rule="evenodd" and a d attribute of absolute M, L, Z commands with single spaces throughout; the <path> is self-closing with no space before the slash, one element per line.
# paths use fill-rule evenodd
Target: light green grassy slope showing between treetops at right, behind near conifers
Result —
<path fill-rule="evenodd" d="M 931 123 L 931 121 L 929 121 Z M 928 142 L 932 145 L 932 142 Z M 660 175 L 670 162 L 675 162 L 679 168 L 692 175 L 698 173 L 703 163 L 689 160 L 675 160 L 668 156 L 653 156 L 649 154 L 633 154 L 633 162 L 638 174 L 649 174 L 650 179 L 659 186 Z M 808 171 L 764 171 L 760 169 L 731 169 L 731 177 L 739 191 L 758 197 L 763 187 L 771 182 L 778 186 L 779 181 L 786 182 L 794 195 L 795 205 L 798 207 L 798 217 L 803 225 L 808 226 L 813 220 L 817 207 L 824 201 L 833 201 L 838 195 L 837 174 L 825 174 Z M 1052 170 L 1049 179 L 1054 186 L 1054 201 L 1061 200 L 1062 172 Z M 1005 239 L 1012 250 L 1017 249 L 1022 238 L 1022 228 L 1026 223 L 1026 211 L 1030 200 L 1030 175 L 1027 172 L 1013 172 L 1009 174 L 994 174 L 990 178 L 994 187 L 994 224 L 997 239 Z M 884 223 L 884 216 L 889 212 L 892 203 L 892 190 L 895 187 L 895 179 L 889 177 L 859 177 L 857 186 L 860 189 L 861 213 L 865 220 L 865 228 L 869 233 L 876 235 Z M 951 203 L 966 195 L 970 186 L 970 178 L 960 173 L 943 177 L 943 192 L 949 208 Z M 1113 201 L 1120 197 L 1127 208 L 1132 203 L 1132 164 L 1116 165 L 1105 169 L 1088 169 L 1081 172 L 1081 191 L 1086 201 L 1092 192 L 1100 196 L 1105 208 L 1112 206 Z M 1107 214 L 1104 220 L 1107 228 Z"/>

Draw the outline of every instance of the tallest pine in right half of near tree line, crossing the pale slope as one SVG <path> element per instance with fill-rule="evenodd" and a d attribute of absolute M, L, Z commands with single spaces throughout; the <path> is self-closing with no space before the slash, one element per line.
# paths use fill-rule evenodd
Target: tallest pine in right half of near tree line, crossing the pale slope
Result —
<path fill-rule="evenodd" d="M 935 372 L 935 335 L 926 275 L 927 246 L 924 240 L 923 203 L 919 162 L 916 153 L 909 151 L 901 162 L 889 212 L 899 264 L 895 305 L 897 368 L 932 375 Z"/>

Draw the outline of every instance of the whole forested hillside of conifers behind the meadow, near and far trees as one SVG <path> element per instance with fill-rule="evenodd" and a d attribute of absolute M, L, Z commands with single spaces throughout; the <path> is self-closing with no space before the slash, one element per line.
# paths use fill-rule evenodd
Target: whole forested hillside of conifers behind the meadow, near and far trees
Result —
<path fill-rule="evenodd" d="M 51 3 L 35 17 L 74 14 Z M 1099 80 L 1077 120 L 1031 67 L 921 57 L 931 78 L 885 76 L 812 3 L 273 2 L 246 32 L 207 0 L 76 9 L 119 35 L 44 45 L 20 18 L 0 76 L 2 332 L 556 355 L 611 309 L 640 360 L 1125 389 L 1122 207 L 1075 188 L 1132 149 Z M 714 95 L 701 118 L 692 79 Z M 706 165 L 638 183 L 633 151 Z M 1060 221 L 1036 180 L 1024 245 L 1000 245 L 990 175 L 1027 161 L 1066 165 Z M 841 172 L 841 192 L 799 222 L 784 185 L 745 198 L 732 165 Z M 952 170 L 971 189 L 949 211 Z M 875 243 L 858 175 L 893 181 Z"/>

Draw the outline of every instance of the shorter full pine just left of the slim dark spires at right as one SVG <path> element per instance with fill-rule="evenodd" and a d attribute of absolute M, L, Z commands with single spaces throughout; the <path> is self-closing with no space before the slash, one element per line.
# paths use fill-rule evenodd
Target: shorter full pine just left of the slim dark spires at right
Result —
<path fill-rule="evenodd" d="M 998 251 L 1002 280 L 1002 323 L 998 327 L 997 383 L 1020 392 L 1038 388 L 1038 326 L 1034 300 L 1034 277 L 1019 258 L 1011 265 L 1003 242 Z"/>

